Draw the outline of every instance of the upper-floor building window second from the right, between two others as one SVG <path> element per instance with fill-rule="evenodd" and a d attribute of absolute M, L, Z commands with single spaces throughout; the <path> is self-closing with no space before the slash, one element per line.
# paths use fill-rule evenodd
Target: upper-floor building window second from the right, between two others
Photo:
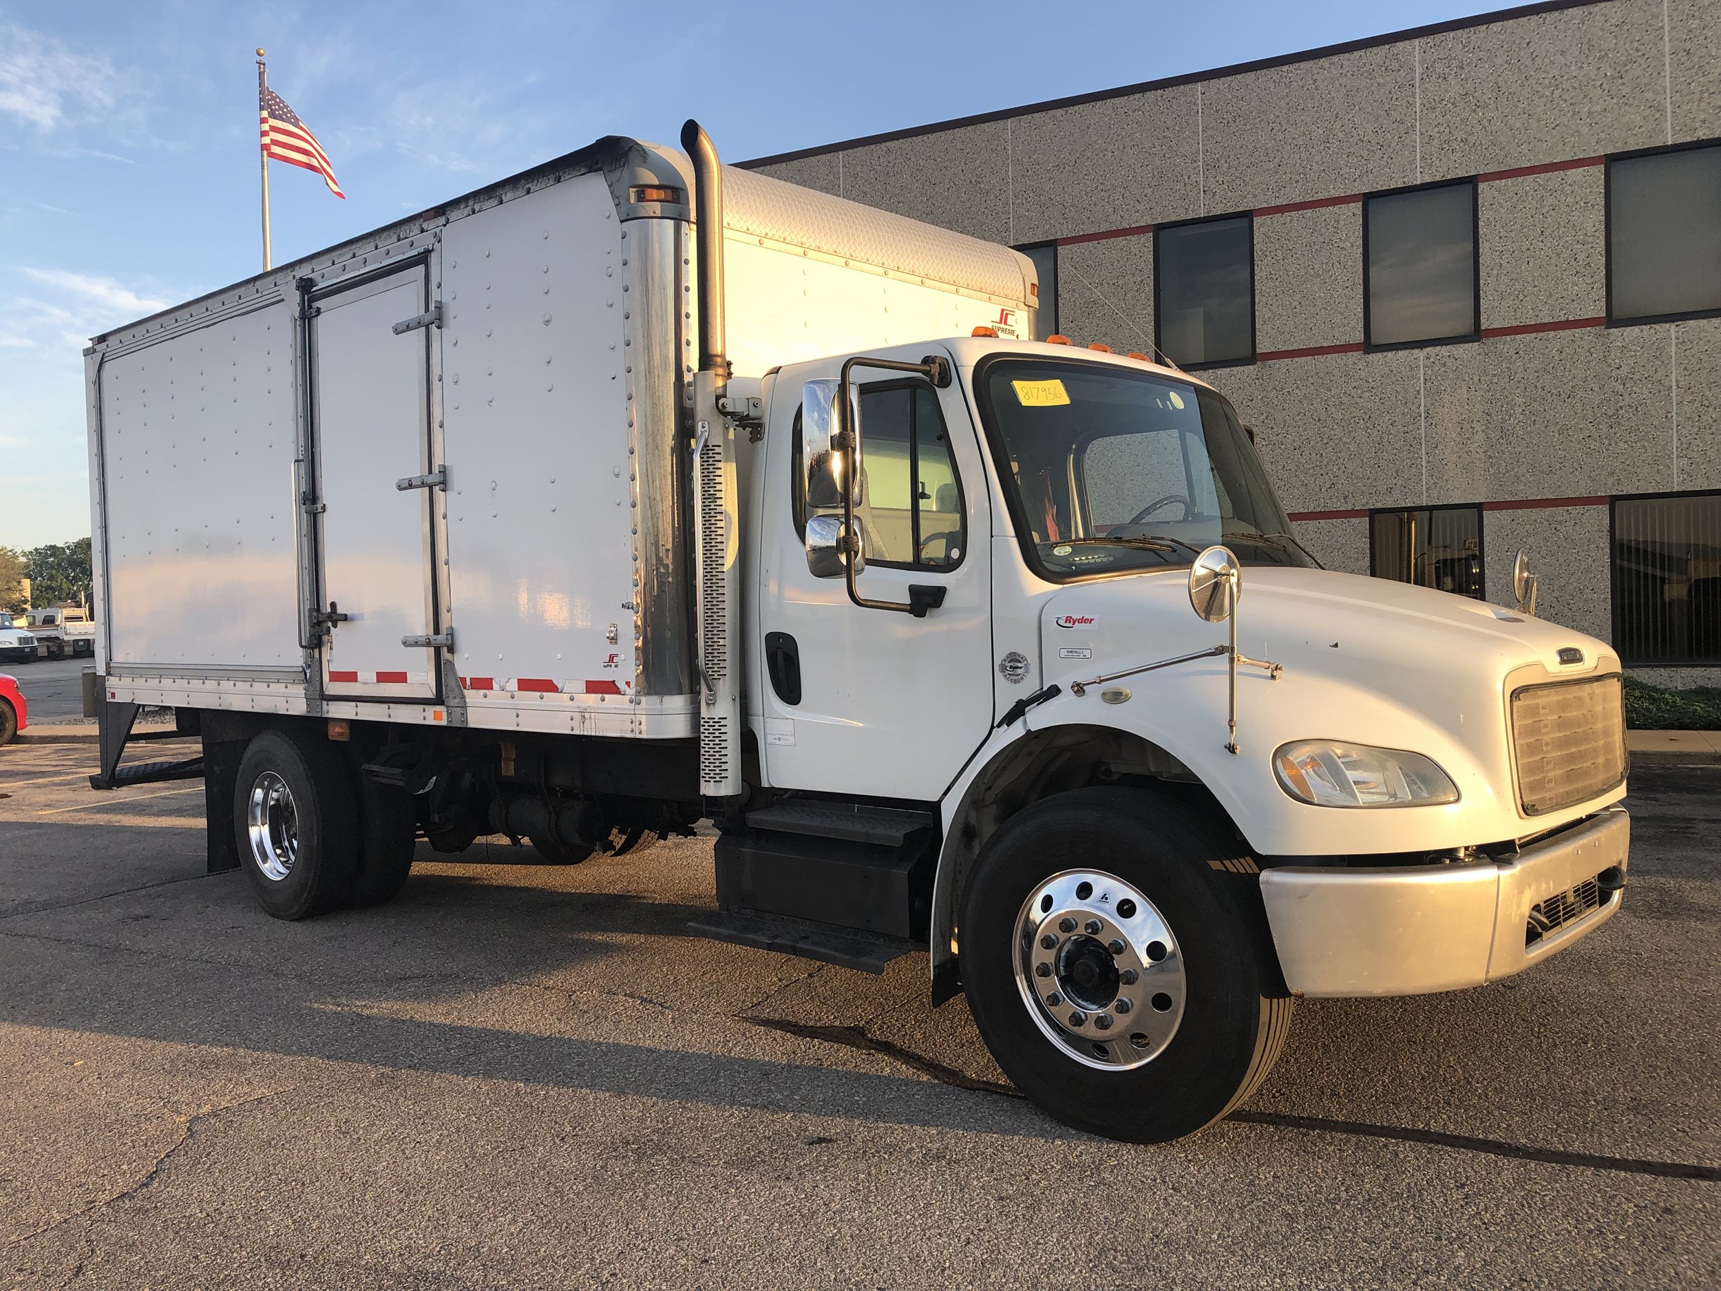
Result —
<path fill-rule="evenodd" d="M 1366 198 L 1363 267 L 1370 348 L 1475 339 L 1477 182 Z"/>

